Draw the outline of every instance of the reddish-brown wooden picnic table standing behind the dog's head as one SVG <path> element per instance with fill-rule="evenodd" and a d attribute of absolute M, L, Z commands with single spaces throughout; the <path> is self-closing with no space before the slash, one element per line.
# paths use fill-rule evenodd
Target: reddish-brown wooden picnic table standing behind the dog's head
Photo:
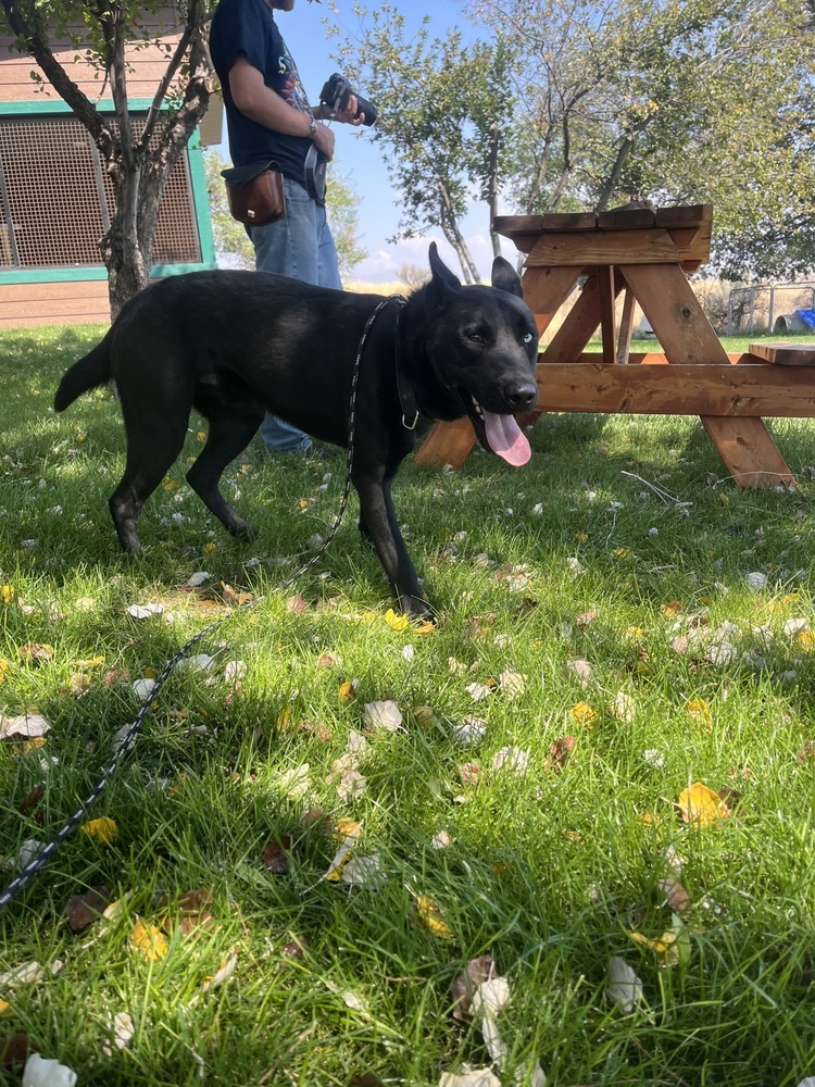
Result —
<path fill-rule="evenodd" d="M 711 204 L 496 218 L 526 254 L 541 335 L 579 285 L 539 355 L 540 396 L 522 425 L 543 412 L 698 415 L 739 486 L 795 486 L 764 417 L 815 417 L 815 343 L 725 351 L 687 279 L 710 258 L 712 226 Z M 635 302 L 662 351 L 631 353 Z M 598 327 L 602 353 L 586 353 Z M 467 418 L 437 423 L 416 463 L 461 467 L 475 441 Z"/>

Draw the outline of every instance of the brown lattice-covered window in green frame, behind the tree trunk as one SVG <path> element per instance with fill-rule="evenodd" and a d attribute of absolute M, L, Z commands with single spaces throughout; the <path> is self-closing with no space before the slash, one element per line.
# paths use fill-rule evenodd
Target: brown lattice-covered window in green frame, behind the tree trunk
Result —
<path fill-rule="evenodd" d="M 75 117 L 0 117 L 0 270 L 98 267 L 113 207 L 99 153 Z M 164 189 L 151 263 L 200 261 L 185 154 Z"/>

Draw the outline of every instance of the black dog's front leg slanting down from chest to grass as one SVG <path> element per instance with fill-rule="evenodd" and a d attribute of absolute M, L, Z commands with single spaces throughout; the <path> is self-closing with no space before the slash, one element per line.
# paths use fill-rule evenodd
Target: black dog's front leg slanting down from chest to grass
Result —
<path fill-rule="evenodd" d="M 354 487 L 360 496 L 360 528 L 376 548 L 400 608 L 411 619 L 432 619 L 432 609 L 422 597 L 416 571 L 399 530 L 390 479 L 355 477 Z"/>

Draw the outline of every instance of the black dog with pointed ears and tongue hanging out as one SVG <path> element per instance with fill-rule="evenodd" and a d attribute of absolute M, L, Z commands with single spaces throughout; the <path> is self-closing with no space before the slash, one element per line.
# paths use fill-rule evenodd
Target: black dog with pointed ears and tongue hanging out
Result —
<path fill-rule="evenodd" d="M 430 246 L 432 278 L 387 302 L 365 339 L 352 480 L 360 528 L 411 616 L 430 613 L 399 532 L 390 485 L 415 442 L 416 414 L 468 415 L 480 443 L 519 465 L 529 443 L 513 415 L 536 401 L 538 332 L 521 279 L 497 258 L 492 286 L 462 288 Z M 321 441 L 348 445 L 354 364 L 381 296 L 312 287 L 260 272 L 193 272 L 145 288 L 63 376 L 57 411 L 113 379 L 127 466 L 110 499 L 122 547 L 139 551 L 141 507 L 184 445 L 191 408 L 210 422 L 187 480 L 235 536 L 253 535 L 218 490 L 266 409 Z"/>

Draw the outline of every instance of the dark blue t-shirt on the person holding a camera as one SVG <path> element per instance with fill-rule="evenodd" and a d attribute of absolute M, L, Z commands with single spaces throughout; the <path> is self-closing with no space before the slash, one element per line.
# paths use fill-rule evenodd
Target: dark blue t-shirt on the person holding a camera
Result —
<path fill-rule="evenodd" d="M 287 177 L 303 183 L 308 136 L 287 136 L 244 116 L 229 92 L 229 70 L 239 57 L 263 73 L 263 82 L 289 105 L 312 115 L 297 65 L 264 0 L 221 0 L 212 21 L 210 53 L 226 105 L 233 164 L 275 159 Z"/>

